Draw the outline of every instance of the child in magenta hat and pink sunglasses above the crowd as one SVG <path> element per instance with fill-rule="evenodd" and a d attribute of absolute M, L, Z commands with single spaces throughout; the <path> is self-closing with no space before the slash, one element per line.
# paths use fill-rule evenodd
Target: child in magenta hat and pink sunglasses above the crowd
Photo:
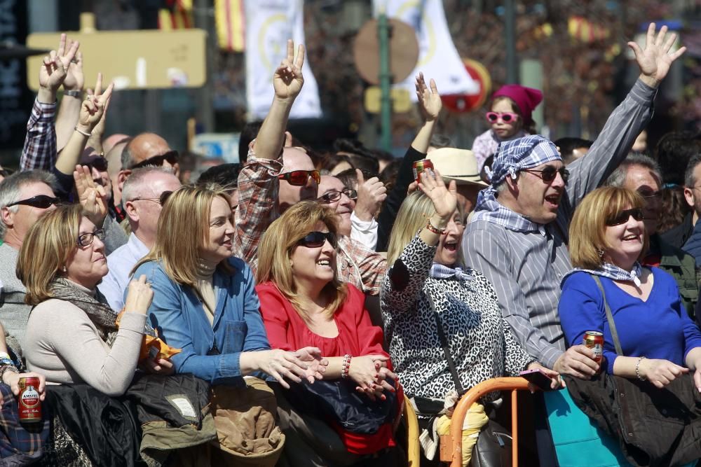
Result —
<path fill-rule="evenodd" d="M 490 128 L 472 144 L 478 169 L 482 169 L 486 158 L 496 154 L 501 141 L 536 133 L 531 113 L 542 100 L 543 93 L 539 90 L 517 84 L 502 86 L 491 96 L 489 112 L 486 113 Z"/>

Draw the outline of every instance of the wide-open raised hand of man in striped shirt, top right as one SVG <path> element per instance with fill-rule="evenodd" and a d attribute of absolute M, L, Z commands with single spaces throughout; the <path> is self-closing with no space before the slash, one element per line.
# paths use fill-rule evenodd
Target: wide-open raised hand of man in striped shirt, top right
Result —
<path fill-rule="evenodd" d="M 676 34 L 672 33 L 667 36 L 667 26 L 662 26 L 658 35 L 655 36 L 655 23 L 651 22 L 644 50 L 641 50 L 635 42 L 628 43 L 629 48 L 632 48 L 635 53 L 635 60 L 640 67 L 640 78 L 644 83 L 656 88 L 667 76 L 672 62 L 686 52 L 686 47 L 680 47 L 676 52 L 669 53 L 675 40 Z"/>

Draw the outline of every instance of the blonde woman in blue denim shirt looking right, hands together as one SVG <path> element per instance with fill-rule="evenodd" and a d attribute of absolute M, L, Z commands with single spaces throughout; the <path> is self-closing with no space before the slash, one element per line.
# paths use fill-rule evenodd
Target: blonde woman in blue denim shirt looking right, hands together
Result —
<path fill-rule="evenodd" d="M 163 202 L 156 244 L 135 268 L 154 291 L 151 325 L 171 347 L 175 371 L 210 384 L 244 386 L 265 372 L 313 382 L 325 371 L 320 350 L 271 350 L 250 267 L 231 256 L 235 229 L 221 190 L 183 187 Z"/>

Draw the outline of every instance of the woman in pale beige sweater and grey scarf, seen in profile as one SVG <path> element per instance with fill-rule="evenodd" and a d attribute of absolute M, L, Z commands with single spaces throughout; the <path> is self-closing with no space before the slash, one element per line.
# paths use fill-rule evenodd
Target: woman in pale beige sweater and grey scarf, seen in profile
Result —
<path fill-rule="evenodd" d="M 42 216 L 25 237 L 17 275 L 34 305 L 22 349 L 27 368 L 56 384 L 87 383 L 121 395 L 134 377 L 153 293 L 131 282 L 117 329 L 115 312 L 95 286 L 107 274 L 104 230 L 80 204 Z"/>

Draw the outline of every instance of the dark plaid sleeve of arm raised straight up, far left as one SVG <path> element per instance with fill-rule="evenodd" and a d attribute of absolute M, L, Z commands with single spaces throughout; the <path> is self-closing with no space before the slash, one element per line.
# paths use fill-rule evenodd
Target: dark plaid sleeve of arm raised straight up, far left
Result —
<path fill-rule="evenodd" d="M 20 170 L 51 170 L 56 163 L 56 102 L 43 104 L 34 99 L 32 115 L 27 122 L 25 147 L 20 157 Z"/>

